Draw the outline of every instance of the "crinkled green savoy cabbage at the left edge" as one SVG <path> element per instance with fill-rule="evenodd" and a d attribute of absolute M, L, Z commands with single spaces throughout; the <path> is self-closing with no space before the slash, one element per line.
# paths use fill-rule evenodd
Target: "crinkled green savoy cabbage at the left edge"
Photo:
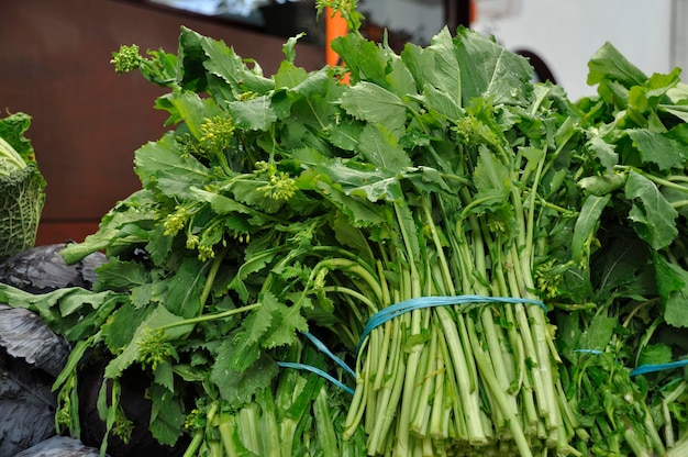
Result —
<path fill-rule="evenodd" d="M 38 171 L 25 113 L 0 119 L 0 260 L 33 247 L 45 203 L 45 180 Z"/>

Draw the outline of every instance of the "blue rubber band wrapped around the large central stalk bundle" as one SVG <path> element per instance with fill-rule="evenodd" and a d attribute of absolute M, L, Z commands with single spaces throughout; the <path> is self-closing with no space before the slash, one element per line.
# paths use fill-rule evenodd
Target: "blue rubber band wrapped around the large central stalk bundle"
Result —
<path fill-rule="evenodd" d="M 390 321 L 397 317 L 400 314 L 407 313 L 413 310 L 421 310 L 424 308 L 433 308 L 433 306 L 446 306 L 452 304 L 467 304 L 467 303 L 479 303 L 479 302 L 488 302 L 488 303 L 528 303 L 528 304 L 536 304 L 547 312 L 547 306 L 541 300 L 531 300 L 531 299 L 517 299 L 513 297 L 484 297 L 484 296 L 455 296 L 455 297 L 419 297 L 415 299 L 404 300 L 399 303 L 395 303 L 390 306 L 387 306 L 377 313 L 375 313 L 366 323 L 366 326 L 363 328 L 363 333 L 360 335 L 360 341 L 358 342 L 358 347 L 356 347 L 356 354 L 360 350 L 360 347 L 364 344 L 364 341 L 368 337 L 373 328 L 382 325 L 385 322 Z"/>

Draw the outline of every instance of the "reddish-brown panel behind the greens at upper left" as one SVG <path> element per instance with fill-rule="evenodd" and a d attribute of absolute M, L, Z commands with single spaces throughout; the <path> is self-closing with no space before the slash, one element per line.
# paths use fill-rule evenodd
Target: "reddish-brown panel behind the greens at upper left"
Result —
<path fill-rule="evenodd" d="M 140 186 L 134 151 L 165 131 L 153 108 L 166 90 L 110 64 L 122 44 L 176 53 L 179 27 L 223 40 L 266 75 L 285 38 L 169 10 L 115 0 L 2 0 L 0 110 L 33 118 L 26 136 L 47 181 L 36 245 L 82 241 L 102 215 Z M 324 51 L 299 45 L 297 64 L 324 64 Z"/>

